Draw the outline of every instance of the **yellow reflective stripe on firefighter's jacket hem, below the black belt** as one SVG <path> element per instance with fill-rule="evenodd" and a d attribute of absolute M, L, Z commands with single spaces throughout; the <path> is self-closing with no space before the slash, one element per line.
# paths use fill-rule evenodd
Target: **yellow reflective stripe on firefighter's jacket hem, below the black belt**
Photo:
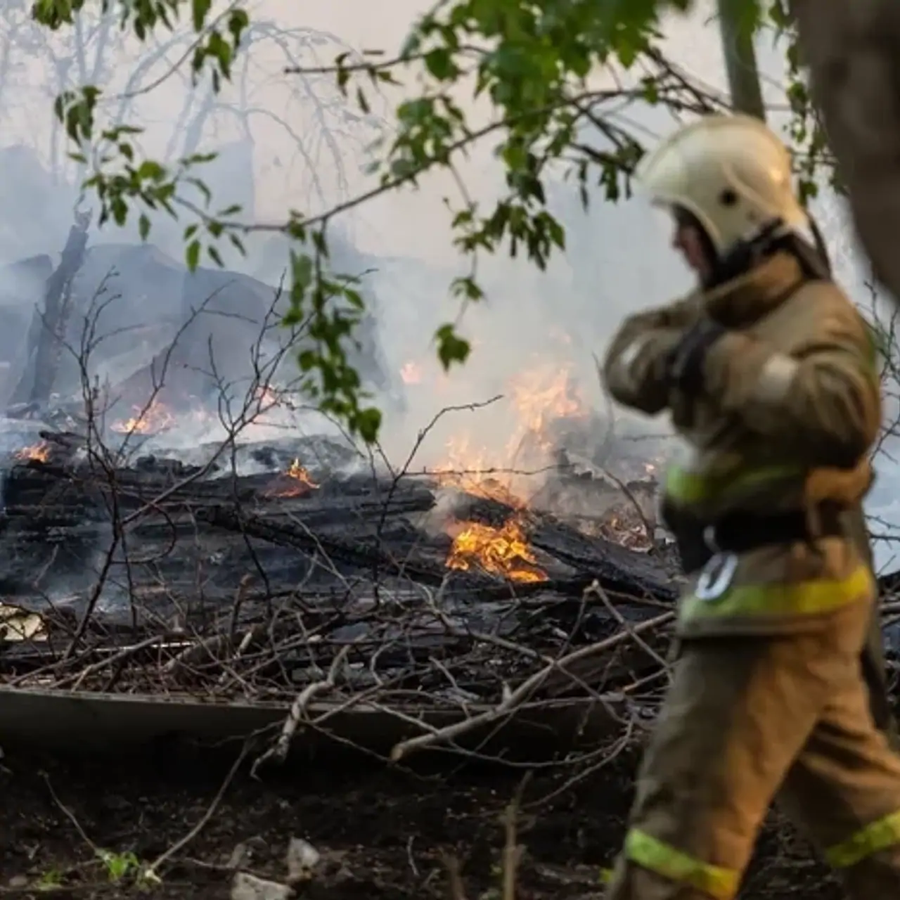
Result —
<path fill-rule="evenodd" d="M 689 594 L 681 600 L 679 617 L 685 622 L 719 617 L 815 616 L 869 596 L 873 590 L 871 570 L 860 565 L 840 580 L 739 585 L 709 600 Z"/>

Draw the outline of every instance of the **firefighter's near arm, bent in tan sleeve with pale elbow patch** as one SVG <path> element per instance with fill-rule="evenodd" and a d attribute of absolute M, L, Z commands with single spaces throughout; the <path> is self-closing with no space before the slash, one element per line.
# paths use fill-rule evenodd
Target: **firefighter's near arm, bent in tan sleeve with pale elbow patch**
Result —
<path fill-rule="evenodd" d="M 741 332 L 710 347 L 706 392 L 725 415 L 812 465 L 851 467 L 878 437 L 881 401 L 868 330 L 849 302 L 806 317 L 790 353 Z"/>

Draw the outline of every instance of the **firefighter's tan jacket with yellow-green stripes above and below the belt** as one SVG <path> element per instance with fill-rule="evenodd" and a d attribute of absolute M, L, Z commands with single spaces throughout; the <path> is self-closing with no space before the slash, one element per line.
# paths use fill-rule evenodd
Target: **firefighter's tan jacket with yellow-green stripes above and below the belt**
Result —
<path fill-rule="evenodd" d="M 709 349 L 705 390 L 671 386 L 667 357 L 709 317 L 728 329 Z M 625 321 L 604 364 L 608 391 L 648 414 L 668 410 L 689 453 L 671 465 L 664 506 L 700 522 L 853 508 L 869 490 L 881 421 L 878 363 L 866 322 L 832 282 L 810 280 L 788 253 L 746 275 Z M 859 542 L 841 536 L 741 554 L 730 585 L 681 601 L 680 634 L 772 634 L 815 628 L 848 603 L 873 602 Z"/>

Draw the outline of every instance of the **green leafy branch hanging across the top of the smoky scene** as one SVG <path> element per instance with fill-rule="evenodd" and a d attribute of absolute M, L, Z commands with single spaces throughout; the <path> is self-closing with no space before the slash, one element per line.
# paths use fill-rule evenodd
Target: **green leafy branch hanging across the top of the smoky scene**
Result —
<path fill-rule="evenodd" d="M 211 0 L 97 0 L 103 12 L 116 11 L 121 29 L 139 40 L 160 29 L 174 31 L 181 14 L 200 38 L 191 57 L 194 84 L 208 76 L 218 93 L 229 81 L 249 18 L 237 5 L 211 18 Z M 99 200 L 101 223 L 121 225 L 132 206 L 139 207 L 139 232 L 150 232 L 148 210 L 177 218 L 188 211 L 185 259 L 199 266 L 204 254 L 221 265 L 217 243 L 229 239 L 243 249 L 241 237 L 254 230 L 277 230 L 293 240 L 291 307 L 285 324 L 310 322 L 313 347 L 298 362 L 305 390 L 320 408 L 343 420 L 351 433 L 374 441 L 381 413 L 369 404 L 359 374 L 349 362 L 365 302 L 361 276 L 336 274 L 329 266 L 331 220 L 375 196 L 418 187 L 435 169 L 450 173 L 457 196 L 445 197 L 453 244 L 470 262 L 466 275 L 450 284 L 461 311 L 484 297 L 477 275 L 480 255 L 505 252 L 524 256 L 545 269 L 566 247 L 563 225 L 548 209 L 550 180 L 574 177 L 587 207 L 590 188 L 616 201 L 629 192 L 629 175 L 643 148 L 626 130 L 618 113 L 627 103 L 664 104 L 676 112 L 706 112 L 716 98 L 669 65 L 655 46 L 659 17 L 669 9 L 687 10 L 689 0 L 455 0 L 419 19 L 394 58 L 342 53 L 334 67 L 286 70 L 285 76 L 330 71 L 347 103 L 368 114 L 370 95 L 383 85 L 412 76 L 417 90 L 395 111 L 392 137 L 374 149 L 369 174 L 377 184 L 328 211 L 307 215 L 290 211 L 276 224 L 242 222 L 238 207 L 211 211 L 212 197 L 197 174 L 211 156 L 192 156 L 174 166 L 139 160 L 132 143 L 139 129 L 128 124 L 98 129 L 102 92 L 95 85 L 58 97 L 56 113 L 76 145 L 74 157 L 89 166 L 85 188 Z M 85 0 L 35 0 L 32 15 L 48 28 L 71 26 Z M 752 3 L 753 10 L 758 4 Z M 756 14 L 752 19 L 756 22 Z M 598 89 L 598 74 L 614 86 Z M 464 109 L 461 88 L 473 100 L 487 100 L 491 116 L 476 121 Z M 493 138 L 503 168 L 505 190 L 484 203 L 467 190 L 459 160 L 479 141 Z M 205 197 L 200 209 L 180 195 L 185 184 Z M 469 342 L 459 333 L 459 318 L 436 331 L 437 356 L 445 369 L 462 364 Z"/>

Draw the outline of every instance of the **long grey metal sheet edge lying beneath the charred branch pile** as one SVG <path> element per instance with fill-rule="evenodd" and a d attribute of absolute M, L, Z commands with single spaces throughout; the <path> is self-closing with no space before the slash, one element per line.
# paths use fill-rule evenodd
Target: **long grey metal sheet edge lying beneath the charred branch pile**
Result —
<path fill-rule="evenodd" d="M 476 716 L 485 708 L 470 707 L 468 715 Z M 9 749 L 121 752 L 166 739 L 220 742 L 243 738 L 266 726 L 277 727 L 288 709 L 287 704 L 204 702 L 190 697 L 0 689 L 0 745 Z M 426 724 L 426 729 L 453 725 L 465 717 L 462 710 L 410 708 L 404 712 Z M 298 733 L 295 751 L 351 743 L 386 753 L 395 743 L 422 733 L 409 718 L 362 704 L 313 704 L 308 716 L 318 719 L 319 724 Z M 460 740 L 482 742 L 490 734 L 491 743 L 497 741 L 507 748 L 527 746 L 531 755 L 538 751 L 538 744 L 592 742 L 617 730 L 620 725 L 616 719 L 599 701 L 545 702 L 520 709 L 515 716 L 492 722 Z"/>

